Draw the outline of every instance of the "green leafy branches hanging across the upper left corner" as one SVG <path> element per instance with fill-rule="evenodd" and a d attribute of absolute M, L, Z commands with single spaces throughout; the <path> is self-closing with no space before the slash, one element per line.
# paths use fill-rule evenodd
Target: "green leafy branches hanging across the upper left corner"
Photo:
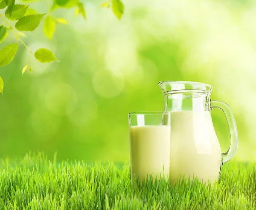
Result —
<path fill-rule="evenodd" d="M 24 2 L 29 2 L 28 0 L 22 0 Z M 15 35 L 17 42 L 7 45 L 0 50 L 0 67 L 8 65 L 14 59 L 17 50 L 18 43 L 23 44 L 29 53 L 35 56 L 35 59 L 41 63 L 58 61 L 52 51 L 46 48 L 40 48 L 35 53 L 33 53 L 28 46 L 23 42 L 20 37 L 26 37 L 23 31 L 34 31 L 41 21 L 44 19 L 44 34 L 51 40 L 56 25 L 68 24 L 64 18 L 54 17 L 52 13 L 56 9 L 71 9 L 76 8 L 75 15 L 81 15 L 84 20 L 87 19 L 87 14 L 84 9 L 84 4 L 79 0 L 52 0 L 51 4 L 49 0 L 46 0 L 48 11 L 44 14 L 38 14 L 35 9 L 29 8 L 27 4 L 15 4 L 15 0 L 0 0 L 0 19 L 3 20 L 3 24 L 0 25 L 0 44 L 8 37 L 9 31 Z M 111 8 L 113 14 L 120 20 L 124 13 L 124 5 L 121 0 L 108 0 L 102 3 L 102 7 Z M 5 9 L 4 13 L 1 12 Z M 16 21 L 15 25 L 9 23 L 9 21 Z M 22 69 L 22 75 L 29 68 L 32 72 L 31 60 Z M 3 94 L 3 79 L 0 77 L 0 93 Z"/>

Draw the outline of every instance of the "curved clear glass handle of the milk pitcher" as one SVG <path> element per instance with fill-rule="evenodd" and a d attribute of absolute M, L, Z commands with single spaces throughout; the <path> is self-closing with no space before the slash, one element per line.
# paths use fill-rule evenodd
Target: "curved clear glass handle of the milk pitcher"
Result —
<path fill-rule="evenodd" d="M 227 119 L 227 124 L 230 130 L 230 146 L 226 153 L 222 153 L 223 163 L 228 162 L 236 154 L 238 148 L 238 133 L 236 128 L 236 120 L 231 111 L 231 108 L 222 101 L 211 100 L 211 110 L 214 108 L 221 109 Z"/>

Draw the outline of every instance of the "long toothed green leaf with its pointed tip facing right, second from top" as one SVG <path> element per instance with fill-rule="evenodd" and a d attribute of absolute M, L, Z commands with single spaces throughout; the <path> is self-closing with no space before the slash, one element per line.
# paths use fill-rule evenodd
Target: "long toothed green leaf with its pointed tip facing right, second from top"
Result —
<path fill-rule="evenodd" d="M 29 14 L 22 17 L 15 24 L 18 31 L 34 31 L 38 26 L 45 14 Z"/>

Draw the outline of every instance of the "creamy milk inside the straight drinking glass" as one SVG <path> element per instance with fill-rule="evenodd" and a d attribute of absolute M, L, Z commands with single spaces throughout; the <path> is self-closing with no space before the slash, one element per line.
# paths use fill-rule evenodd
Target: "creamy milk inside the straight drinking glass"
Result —
<path fill-rule="evenodd" d="M 146 125 L 130 127 L 131 179 L 140 181 L 152 175 L 169 177 L 170 126 Z M 164 168 L 164 171 L 163 171 Z"/>

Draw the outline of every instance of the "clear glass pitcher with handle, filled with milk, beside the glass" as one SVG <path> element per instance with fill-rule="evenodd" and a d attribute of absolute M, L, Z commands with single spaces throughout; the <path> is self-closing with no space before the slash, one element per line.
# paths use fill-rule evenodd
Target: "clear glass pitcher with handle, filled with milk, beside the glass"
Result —
<path fill-rule="evenodd" d="M 238 148 L 236 121 L 230 107 L 210 99 L 212 86 L 200 82 L 161 81 L 164 111 L 171 113 L 170 183 L 185 176 L 197 177 L 213 184 L 221 165 L 229 161 Z M 221 109 L 230 129 L 230 147 L 226 153 L 216 136 L 210 111 Z"/>

